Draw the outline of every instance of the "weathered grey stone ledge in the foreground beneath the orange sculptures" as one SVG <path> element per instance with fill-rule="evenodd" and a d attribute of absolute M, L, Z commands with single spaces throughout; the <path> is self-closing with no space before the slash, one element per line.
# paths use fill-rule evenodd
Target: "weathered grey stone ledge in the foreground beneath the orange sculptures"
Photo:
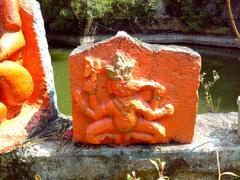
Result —
<path fill-rule="evenodd" d="M 157 171 L 149 159 L 167 163 L 171 179 L 216 179 L 216 151 L 221 170 L 240 174 L 240 139 L 237 113 L 198 115 L 192 144 L 89 146 L 66 145 L 56 151 L 60 141 L 48 140 L 19 148 L 0 156 L 2 179 L 126 179 L 135 170 L 143 179 L 156 179 Z M 13 168 L 17 170 L 12 171 Z M 12 172 L 12 173 L 10 173 Z"/>

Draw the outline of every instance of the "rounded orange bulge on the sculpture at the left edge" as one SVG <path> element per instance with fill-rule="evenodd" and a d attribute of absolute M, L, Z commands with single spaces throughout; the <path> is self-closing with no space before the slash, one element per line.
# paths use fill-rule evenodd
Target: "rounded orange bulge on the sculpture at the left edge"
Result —
<path fill-rule="evenodd" d="M 1 101 L 11 106 L 19 106 L 33 92 L 34 84 L 30 73 L 12 61 L 0 63 Z"/>

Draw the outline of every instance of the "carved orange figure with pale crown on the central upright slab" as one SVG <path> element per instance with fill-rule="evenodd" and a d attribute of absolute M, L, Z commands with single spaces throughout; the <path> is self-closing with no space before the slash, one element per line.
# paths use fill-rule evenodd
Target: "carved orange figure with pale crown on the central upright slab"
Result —
<path fill-rule="evenodd" d="M 117 51 L 113 65 L 85 57 L 83 90 L 74 92 L 80 113 L 91 120 L 85 141 L 91 144 L 157 143 L 165 136 L 160 120 L 174 114 L 171 104 L 161 105 L 166 88 L 158 82 L 135 80 L 136 61 Z M 108 99 L 97 100 L 98 76 L 107 76 Z"/>

